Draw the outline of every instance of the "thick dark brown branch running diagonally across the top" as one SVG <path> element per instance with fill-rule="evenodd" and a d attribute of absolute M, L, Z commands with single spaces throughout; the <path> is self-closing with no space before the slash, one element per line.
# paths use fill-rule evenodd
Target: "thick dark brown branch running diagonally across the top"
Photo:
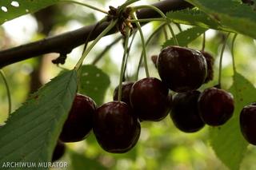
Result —
<path fill-rule="evenodd" d="M 170 10 L 182 10 L 192 7 L 192 5 L 184 0 L 165 0 L 155 3 L 153 6 L 158 7 L 164 14 Z M 138 19 L 157 18 L 159 14 L 151 9 L 143 9 L 138 11 L 137 16 Z M 101 34 L 102 30 L 104 30 L 108 24 L 109 22 L 103 22 L 98 26 L 91 34 L 90 41 L 97 38 L 98 34 Z M 94 26 L 95 25 L 84 26 L 78 30 L 70 31 L 65 34 L 59 34 L 54 37 L 44 38 L 37 42 L 31 42 L 11 49 L 2 50 L 0 51 L 0 68 L 31 57 L 42 56 L 42 54 L 45 53 L 70 53 L 72 49 L 86 42 L 86 38 L 90 31 L 94 29 Z M 117 31 L 118 30 L 114 28 L 113 30 L 110 30 L 107 35 L 114 34 Z"/>

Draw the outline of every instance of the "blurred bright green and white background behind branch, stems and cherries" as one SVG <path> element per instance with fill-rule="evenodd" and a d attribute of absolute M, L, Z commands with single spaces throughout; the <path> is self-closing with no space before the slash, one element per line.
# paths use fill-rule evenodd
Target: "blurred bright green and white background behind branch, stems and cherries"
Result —
<path fill-rule="evenodd" d="M 98 0 L 88 1 L 94 6 L 107 9 L 107 6 L 118 6 L 124 1 Z M 157 1 L 141 1 L 141 3 L 152 3 Z M 6 22 L 0 27 L 0 49 L 21 45 L 26 42 L 61 34 L 69 30 L 75 30 L 82 26 L 93 24 L 102 18 L 102 14 L 95 13 L 82 6 L 72 4 L 60 4 L 41 10 L 34 15 L 26 15 L 22 18 Z M 159 26 L 159 22 L 152 22 L 143 27 L 143 33 L 148 38 L 150 33 Z M 178 29 L 173 25 L 174 31 Z M 182 26 L 185 30 L 189 26 Z M 206 51 L 215 57 L 214 81 L 203 85 L 201 89 L 217 84 L 218 81 L 218 61 L 223 38 L 226 33 L 215 30 L 206 32 Z M 86 58 L 85 64 L 90 64 L 99 53 L 118 38 L 120 34 L 115 34 L 102 38 L 98 45 Z M 170 36 L 170 35 L 169 35 Z M 231 38 L 230 38 L 231 39 Z M 134 77 L 138 65 L 138 58 L 141 55 L 142 46 L 140 38 L 136 35 L 134 44 L 130 51 L 130 58 L 127 65 L 126 77 L 131 80 Z M 150 61 L 150 56 L 158 54 L 165 42 L 164 34 L 156 36 L 147 47 L 149 58 L 150 75 L 158 77 L 158 72 L 154 64 Z M 230 55 L 231 40 L 228 41 L 223 57 L 222 66 L 222 87 L 229 89 L 232 85 L 232 61 Z M 248 37 L 238 35 L 235 42 L 234 57 L 239 73 L 256 84 L 256 42 Z M 194 49 L 202 48 L 202 36 L 190 43 L 189 47 Z M 74 49 L 68 55 L 66 64 L 62 67 L 72 69 L 78 58 L 81 56 L 82 46 Z M 51 63 L 51 60 L 58 57 L 56 53 L 50 53 L 43 57 L 36 57 L 26 61 L 18 62 L 6 66 L 3 70 L 6 73 L 10 85 L 13 108 L 18 109 L 22 102 L 30 93 L 38 87 L 56 77 L 62 68 Z M 114 45 L 98 63 L 98 68 L 102 69 L 110 76 L 111 84 L 105 97 L 105 102 L 112 100 L 114 88 L 118 85 L 119 70 L 122 60 L 122 41 Z M 139 77 L 145 77 L 144 69 L 140 70 Z M 0 80 L 0 123 L 6 121 L 8 114 L 8 102 L 6 97 L 6 87 Z M 142 122 L 142 132 L 138 144 L 125 154 L 110 154 L 102 150 L 96 142 L 93 132 L 81 142 L 66 144 L 67 150 L 62 161 L 67 161 L 67 169 L 227 169 L 214 155 L 214 151 L 208 143 L 208 127 L 199 132 L 185 133 L 174 127 L 170 117 L 160 122 Z M 241 169 L 256 169 L 255 163 L 256 149 L 249 146 Z"/>

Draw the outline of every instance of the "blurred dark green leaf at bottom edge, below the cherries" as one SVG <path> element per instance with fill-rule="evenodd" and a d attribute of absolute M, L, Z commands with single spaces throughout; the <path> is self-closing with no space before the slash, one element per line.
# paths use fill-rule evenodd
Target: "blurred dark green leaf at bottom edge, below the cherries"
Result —
<path fill-rule="evenodd" d="M 88 158 L 76 152 L 71 152 L 70 158 L 71 158 L 71 164 L 73 169 L 97 169 L 97 170 L 108 169 L 104 167 L 99 161 Z"/>

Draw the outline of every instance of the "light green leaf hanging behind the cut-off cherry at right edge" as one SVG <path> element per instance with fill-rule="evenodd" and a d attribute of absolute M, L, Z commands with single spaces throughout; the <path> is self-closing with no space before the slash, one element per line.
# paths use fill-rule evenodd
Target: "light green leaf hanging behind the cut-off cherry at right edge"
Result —
<path fill-rule="evenodd" d="M 245 105 L 255 101 L 256 89 L 241 74 L 234 74 L 234 84 L 230 88 L 234 95 L 234 115 L 225 125 L 210 128 L 210 144 L 218 158 L 232 170 L 239 169 L 248 143 L 240 131 L 239 116 Z"/>

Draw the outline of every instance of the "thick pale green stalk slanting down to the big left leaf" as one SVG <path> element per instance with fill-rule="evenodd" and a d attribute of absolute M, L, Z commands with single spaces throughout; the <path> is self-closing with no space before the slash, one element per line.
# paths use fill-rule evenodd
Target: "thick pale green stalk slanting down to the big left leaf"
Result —
<path fill-rule="evenodd" d="M 94 45 L 96 45 L 97 42 L 115 26 L 116 23 L 117 23 L 117 20 L 110 22 L 110 25 L 107 26 L 106 29 L 103 30 L 102 33 L 98 35 L 98 37 L 94 40 L 94 42 L 90 44 L 88 49 L 86 49 L 86 51 L 82 53 L 82 57 L 79 59 L 78 63 L 74 67 L 75 70 L 78 70 L 80 68 L 80 66 L 82 65 L 82 61 L 84 61 L 84 59 L 86 58 L 90 50 L 93 49 Z"/>

